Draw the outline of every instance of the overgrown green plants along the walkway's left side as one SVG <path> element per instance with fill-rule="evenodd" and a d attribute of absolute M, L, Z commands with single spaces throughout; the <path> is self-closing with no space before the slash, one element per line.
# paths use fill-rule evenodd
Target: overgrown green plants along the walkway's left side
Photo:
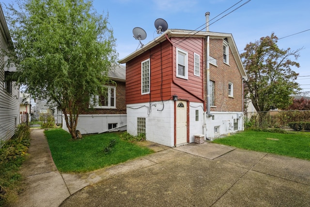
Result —
<path fill-rule="evenodd" d="M 18 192 L 23 190 L 23 177 L 19 169 L 27 156 L 30 145 L 30 129 L 19 125 L 14 137 L 0 148 L 0 207 L 13 204 Z"/>

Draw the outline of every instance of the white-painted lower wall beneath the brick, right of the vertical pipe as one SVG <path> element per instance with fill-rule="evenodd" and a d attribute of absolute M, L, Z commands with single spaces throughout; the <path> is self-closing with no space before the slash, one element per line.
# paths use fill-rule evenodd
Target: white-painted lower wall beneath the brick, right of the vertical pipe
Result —
<path fill-rule="evenodd" d="M 206 137 L 209 140 L 213 138 L 243 130 L 243 113 L 238 111 L 222 112 L 222 111 L 211 111 L 211 114 L 214 116 L 206 117 Z M 233 120 L 238 119 L 238 130 L 233 130 Z M 232 128 L 230 127 L 232 124 Z M 217 133 L 215 133 L 215 127 L 217 128 Z"/>

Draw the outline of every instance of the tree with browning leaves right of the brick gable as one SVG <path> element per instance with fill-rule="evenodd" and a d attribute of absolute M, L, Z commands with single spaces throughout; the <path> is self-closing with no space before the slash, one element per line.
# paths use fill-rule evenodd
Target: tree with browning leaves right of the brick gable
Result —
<path fill-rule="evenodd" d="M 292 67 L 299 64 L 297 60 L 300 49 L 292 51 L 280 49 L 278 37 L 262 37 L 260 40 L 247 44 L 241 54 L 248 74 L 245 87 L 245 100 L 251 100 L 256 111 L 269 111 L 271 108 L 286 108 L 292 104 L 290 95 L 300 90 L 295 81 L 298 73 Z"/>

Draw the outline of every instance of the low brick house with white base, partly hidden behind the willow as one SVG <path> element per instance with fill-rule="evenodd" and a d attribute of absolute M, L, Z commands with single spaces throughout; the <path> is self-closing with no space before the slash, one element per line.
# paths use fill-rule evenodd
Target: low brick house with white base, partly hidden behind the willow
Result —
<path fill-rule="evenodd" d="M 105 93 L 95 97 L 95 105 L 85 109 L 78 116 L 77 130 L 81 134 L 126 130 L 125 66 L 115 66 L 109 70 L 108 75 L 115 84 L 106 85 Z M 65 123 L 64 116 L 62 123 Z M 65 124 L 62 128 L 69 131 Z"/>

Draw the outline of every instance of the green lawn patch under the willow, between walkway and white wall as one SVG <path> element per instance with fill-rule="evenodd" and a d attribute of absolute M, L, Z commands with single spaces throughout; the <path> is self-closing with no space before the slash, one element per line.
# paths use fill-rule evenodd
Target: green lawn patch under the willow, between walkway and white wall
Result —
<path fill-rule="evenodd" d="M 61 172 L 93 171 L 153 153 L 149 148 L 120 139 L 119 133 L 83 135 L 80 140 L 72 140 L 63 129 L 50 129 L 45 134 Z"/>

